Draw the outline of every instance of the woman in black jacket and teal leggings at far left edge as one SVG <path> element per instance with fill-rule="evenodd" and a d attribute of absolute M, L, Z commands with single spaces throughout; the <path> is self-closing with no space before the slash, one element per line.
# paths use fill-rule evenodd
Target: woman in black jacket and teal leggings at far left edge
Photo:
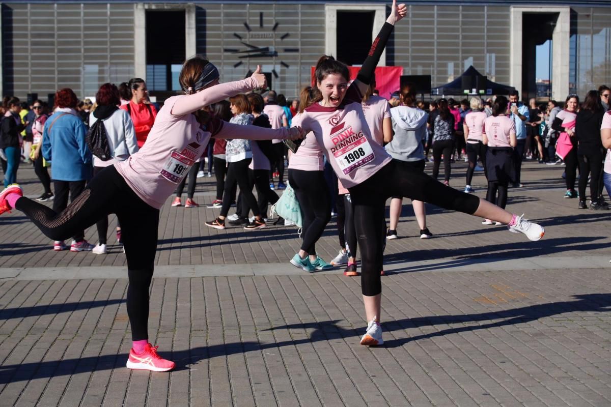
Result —
<path fill-rule="evenodd" d="M 18 98 L 7 99 L 5 104 L 6 113 L 2 117 L 0 131 L 0 148 L 4 149 L 7 166 L 4 171 L 4 187 L 15 184 L 17 181 L 17 168 L 21 160 L 21 135 L 24 129 L 19 112 L 21 103 Z M 29 151 L 28 151 L 29 153 Z"/>

